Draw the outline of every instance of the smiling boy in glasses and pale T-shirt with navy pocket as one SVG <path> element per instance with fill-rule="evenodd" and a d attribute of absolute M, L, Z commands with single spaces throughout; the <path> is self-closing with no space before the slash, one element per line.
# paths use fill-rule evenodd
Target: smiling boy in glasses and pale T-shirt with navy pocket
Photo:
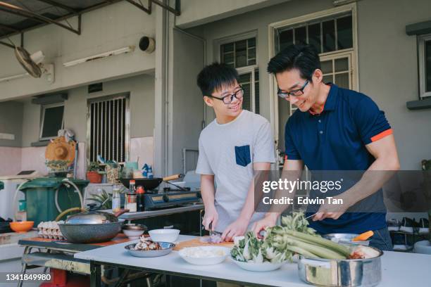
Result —
<path fill-rule="evenodd" d="M 196 173 L 201 174 L 203 224 L 232 241 L 263 217 L 254 213 L 254 171 L 270 170 L 275 162 L 273 135 L 268 120 L 242 109 L 244 89 L 235 68 L 208 65 L 197 84 L 215 113 L 199 137 Z"/>

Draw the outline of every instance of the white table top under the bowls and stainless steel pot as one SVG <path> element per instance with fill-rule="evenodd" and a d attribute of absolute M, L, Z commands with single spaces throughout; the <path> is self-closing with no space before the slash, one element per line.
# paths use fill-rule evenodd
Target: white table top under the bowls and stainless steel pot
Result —
<path fill-rule="evenodd" d="M 178 241 L 185 241 L 195 236 L 180 235 Z M 120 243 L 76 253 L 75 258 L 105 262 L 106 264 L 123 264 L 161 272 L 175 272 L 203 276 L 212 279 L 227 279 L 237 282 L 255 283 L 270 286 L 308 286 L 299 279 L 296 263 L 287 263 L 281 269 L 272 272 L 249 272 L 239 268 L 230 258 L 222 264 L 197 266 L 180 257 L 177 251 L 162 257 L 133 257 Z M 378 286 L 431 286 L 428 276 L 431 266 L 431 255 L 414 253 L 385 252 L 382 256 L 382 281 Z"/>

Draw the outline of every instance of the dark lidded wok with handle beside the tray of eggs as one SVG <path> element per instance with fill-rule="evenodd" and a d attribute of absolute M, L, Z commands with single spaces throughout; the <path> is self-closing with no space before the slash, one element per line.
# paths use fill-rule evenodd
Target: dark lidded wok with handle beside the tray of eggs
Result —
<path fill-rule="evenodd" d="M 120 231 L 123 222 L 118 216 L 129 210 L 120 210 L 115 214 L 89 210 L 71 215 L 64 224 L 58 224 L 61 233 L 70 243 L 96 243 L 110 241 Z"/>

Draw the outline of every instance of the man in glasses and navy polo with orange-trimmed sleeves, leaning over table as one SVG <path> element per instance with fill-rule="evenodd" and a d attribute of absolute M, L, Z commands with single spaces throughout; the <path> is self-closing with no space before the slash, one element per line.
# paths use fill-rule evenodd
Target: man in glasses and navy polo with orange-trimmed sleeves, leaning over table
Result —
<path fill-rule="evenodd" d="M 392 250 L 385 208 L 382 212 L 346 212 L 361 200 L 384 207 L 381 188 L 392 174 L 385 171 L 399 170 L 385 113 L 364 94 L 325 84 L 318 53 L 311 46 L 295 45 L 281 51 L 268 63 L 268 72 L 277 79 L 278 96 L 298 108 L 285 127 L 283 171 L 301 171 L 304 165 L 311 172 L 364 171 L 359 181 L 335 196 L 344 204 L 334 210 L 325 201 L 309 219 L 310 227 L 320 234 L 373 230 L 370 245 Z M 254 225 L 256 234 L 275 225 L 279 216 L 280 212 L 268 212 Z"/>

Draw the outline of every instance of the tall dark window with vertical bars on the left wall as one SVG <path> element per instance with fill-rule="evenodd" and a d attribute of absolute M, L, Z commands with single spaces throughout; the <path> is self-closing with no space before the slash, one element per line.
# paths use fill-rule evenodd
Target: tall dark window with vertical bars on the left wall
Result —
<path fill-rule="evenodd" d="M 88 101 L 87 155 L 96 161 L 125 162 L 128 158 L 129 97 L 113 96 Z"/>

